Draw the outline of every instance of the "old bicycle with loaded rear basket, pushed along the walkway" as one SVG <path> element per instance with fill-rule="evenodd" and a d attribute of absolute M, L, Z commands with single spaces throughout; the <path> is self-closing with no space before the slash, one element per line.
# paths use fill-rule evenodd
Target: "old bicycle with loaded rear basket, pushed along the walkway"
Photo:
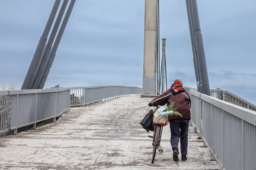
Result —
<path fill-rule="evenodd" d="M 155 112 L 157 111 L 159 107 L 157 107 L 154 111 L 154 114 Z M 167 117 L 167 116 L 166 116 Z M 150 138 L 153 138 L 153 142 L 152 142 L 152 145 L 153 145 L 153 153 L 152 153 L 152 158 L 151 158 L 151 163 L 154 164 L 154 158 L 155 158 L 155 155 L 156 155 L 156 152 L 158 150 L 159 153 L 163 153 L 163 149 L 159 149 L 160 147 L 160 142 L 161 142 L 161 136 L 162 136 L 162 132 L 163 132 L 163 125 L 166 125 L 165 123 L 165 119 L 162 119 L 162 121 L 154 121 L 154 135 L 153 136 L 148 136 Z M 154 119 L 155 116 L 154 116 Z M 164 120 L 164 121 L 163 121 Z"/>

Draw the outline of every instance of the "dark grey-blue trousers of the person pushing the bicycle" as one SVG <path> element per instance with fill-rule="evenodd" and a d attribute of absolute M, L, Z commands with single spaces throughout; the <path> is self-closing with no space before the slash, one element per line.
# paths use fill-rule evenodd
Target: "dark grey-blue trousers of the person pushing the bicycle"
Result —
<path fill-rule="evenodd" d="M 188 132 L 189 120 L 175 120 L 170 122 L 171 145 L 178 148 L 180 139 L 180 150 L 182 155 L 188 154 Z"/>

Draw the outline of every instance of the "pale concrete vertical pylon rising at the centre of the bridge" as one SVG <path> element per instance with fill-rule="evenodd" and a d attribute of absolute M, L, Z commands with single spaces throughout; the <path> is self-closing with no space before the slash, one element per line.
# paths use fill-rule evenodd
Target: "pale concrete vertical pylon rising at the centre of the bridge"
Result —
<path fill-rule="evenodd" d="M 145 0 L 143 94 L 156 94 L 157 0 Z"/>

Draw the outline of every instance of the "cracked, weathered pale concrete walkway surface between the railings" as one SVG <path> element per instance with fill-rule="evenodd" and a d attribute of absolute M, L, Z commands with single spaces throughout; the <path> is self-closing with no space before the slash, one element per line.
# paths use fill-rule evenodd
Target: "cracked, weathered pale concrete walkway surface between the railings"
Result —
<path fill-rule="evenodd" d="M 219 169 L 189 127 L 188 160 L 172 160 L 169 126 L 151 164 L 152 139 L 139 124 L 149 111 L 140 96 L 72 108 L 57 122 L 0 139 L 0 168 L 8 170 L 204 170 Z"/>

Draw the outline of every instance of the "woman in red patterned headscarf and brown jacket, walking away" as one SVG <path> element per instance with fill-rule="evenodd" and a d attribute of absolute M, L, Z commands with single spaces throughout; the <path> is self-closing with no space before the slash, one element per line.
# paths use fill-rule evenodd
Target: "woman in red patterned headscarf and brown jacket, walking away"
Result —
<path fill-rule="evenodd" d="M 170 89 L 154 98 L 150 103 L 148 103 L 148 106 L 169 105 L 171 101 L 174 103 L 173 109 L 176 108 L 176 111 L 182 114 L 182 117 L 175 115 L 168 116 L 171 129 L 173 160 L 179 161 L 178 144 L 180 139 L 181 160 L 186 161 L 189 121 L 191 119 L 191 99 L 189 93 L 183 89 L 182 81 L 179 79 L 175 80 Z"/>

